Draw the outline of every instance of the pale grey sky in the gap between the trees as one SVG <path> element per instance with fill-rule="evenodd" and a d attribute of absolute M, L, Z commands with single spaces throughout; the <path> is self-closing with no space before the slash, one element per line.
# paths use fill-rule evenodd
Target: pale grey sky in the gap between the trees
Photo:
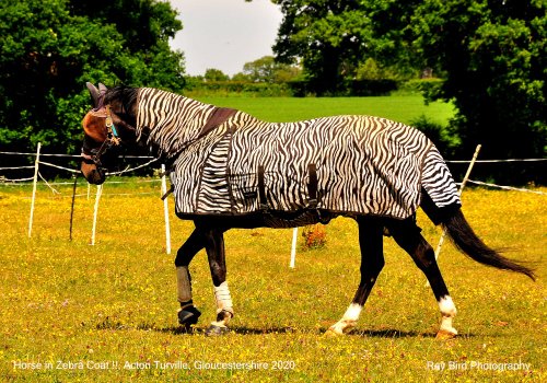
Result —
<path fill-rule="evenodd" d="M 186 73 L 209 68 L 233 76 L 243 65 L 272 56 L 280 9 L 269 0 L 170 0 L 183 22 L 171 47 L 185 55 Z"/>

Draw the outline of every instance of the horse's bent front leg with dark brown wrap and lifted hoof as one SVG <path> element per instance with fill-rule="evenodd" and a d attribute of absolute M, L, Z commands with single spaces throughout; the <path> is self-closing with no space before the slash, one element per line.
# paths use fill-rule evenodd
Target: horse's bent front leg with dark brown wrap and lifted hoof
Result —
<path fill-rule="evenodd" d="M 178 311 L 178 323 L 190 329 L 191 325 L 198 322 L 201 313 L 194 306 L 191 300 L 191 277 L 188 270 L 194 256 L 206 245 L 206 233 L 195 229 L 188 240 L 178 248 L 175 258 L 177 299 L 181 303 Z"/>

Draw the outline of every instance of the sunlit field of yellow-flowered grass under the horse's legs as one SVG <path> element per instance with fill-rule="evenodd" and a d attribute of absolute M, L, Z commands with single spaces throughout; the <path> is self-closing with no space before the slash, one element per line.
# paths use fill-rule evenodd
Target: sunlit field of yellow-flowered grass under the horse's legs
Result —
<path fill-rule="evenodd" d="M 236 316 L 231 333 L 209 338 L 203 330 L 216 306 L 205 252 L 190 265 L 195 302 L 203 315 L 195 334 L 178 332 L 173 258 L 193 224 L 172 213 L 174 251 L 166 255 L 158 188 L 137 179 L 107 183 L 97 242 L 91 246 L 94 187 L 89 200 L 77 198 L 72 242 L 70 186 L 60 186 L 59 196 L 38 188 L 32 239 L 26 237 L 31 187 L 0 187 L 0 380 L 545 381 L 545 196 L 464 193 L 464 211 L 476 231 L 492 246 L 509 248 L 508 255 L 536 262 L 538 281 L 484 267 L 445 244 L 440 266 L 458 309 L 456 339 L 434 338 L 437 302 L 391 239 L 384 241 L 386 266 L 356 332 L 324 336 L 359 281 L 357 228 L 345 218 L 326 227 L 326 247 L 299 248 L 293 270 L 291 230 L 229 231 L 228 276 Z M 80 185 L 78 193 L 85 192 Z M 152 194 L 109 195 L 115 193 Z M 435 245 L 440 230 L 421 212 L 418 219 Z M 175 363 L 174 369 L 156 368 L 154 361 Z M 274 370 L 276 361 L 287 370 Z M 149 362 L 150 368 L 126 369 L 126 362 Z M 216 362 L 247 364 L 198 369 Z M 442 371 L 434 369 L 442 364 L 431 364 L 442 362 Z M 449 362 L 458 369 L 450 370 Z M 473 362 L 498 368 L 522 362 L 529 370 L 480 370 Z M 249 363 L 268 363 L 268 369 L 245 369 Z"/>

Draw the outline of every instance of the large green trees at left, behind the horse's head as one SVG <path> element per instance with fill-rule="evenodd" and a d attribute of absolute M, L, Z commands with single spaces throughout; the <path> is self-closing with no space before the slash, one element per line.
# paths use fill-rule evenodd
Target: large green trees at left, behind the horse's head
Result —
<path fill-rule="evenodd" d="M 0 148 L 75 152 L 85 81 L 182 91 L 182 28 L 153 0 L 0 0 Z"/>

